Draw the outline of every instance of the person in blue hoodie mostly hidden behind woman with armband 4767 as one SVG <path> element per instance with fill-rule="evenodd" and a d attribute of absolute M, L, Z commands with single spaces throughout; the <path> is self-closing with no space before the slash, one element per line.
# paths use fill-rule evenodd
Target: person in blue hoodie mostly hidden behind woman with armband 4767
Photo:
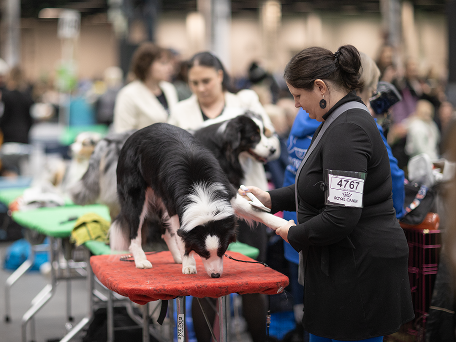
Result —
<path fill-rule="evenodd" d="M 363 102 L 368 106 L 368 109 L 372 109 L 369 105 L 369 98 L 377 89 L 378 78 L 380 71 L 377 65 L 373 62 L 372 58 L 368 57 L 363 52 L 360 52 L 361 64 L 363 66 L 363 72 L 361 73 L 360 80 L 363 81 L 364 87 L 357 89 L 357 95 L 361 97 Z M 377 119 L 375 119 L 377 122 Z M 309 114 L 302 108 L 299 109 L 296 115 L 293 126 L 290 130 L 290 135 L 287 140 L 287 152 L 288 152 L 288 165 L 285 169 L 285 177 L 283 186 L 289 186 L 295 183 L 296 171 L 301 164 L 304 155 L 311 143 L 313 134 L 321 123 L 315 119 L 311 119 Z M 377 128 L 382 137 L 383 143 L 385 144 L 386 150 L 388 151 L 389 165 L 391 168 L 391 179 L 393 182 L 393 206 L 396 210 L 396 218 L 400 219 L 405 215 L 404 209 L 404 171 L 399 168 L 398 161 L 393 156 L 391 147 L 388 145 L 387 140 L 383 134 L 383 129 L 377 122 Z M 285 220 L 294 220 L 296 222 L 296 212 L 283 212 L 283 218 Z M 303 309 L 303 289 L 302 285 L 298 283 L 298 265 L 299 265 L 299 254 L 291 247 L 290 244 L 284 240 L 284 255 L 285 259 L 289 262 L 290 272 L 290 288 L 291 295 L 293 296 L 294 307 L 293 311 L 295 314 L 296 331 L 302 330 L 301 319 Z M 308 339 L 308 335 L 304 332 L 304 341 Z"/>

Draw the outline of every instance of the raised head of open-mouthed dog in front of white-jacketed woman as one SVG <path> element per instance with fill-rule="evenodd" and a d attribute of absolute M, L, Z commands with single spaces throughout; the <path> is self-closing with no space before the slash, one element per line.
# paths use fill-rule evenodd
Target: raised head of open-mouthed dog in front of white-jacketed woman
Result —
<path fill-rule="evenodd" d="M 264 126 L 261 116 L 253 112 L 223 122 L 217 132 L 223 136 L 227 150 L 237 155 L 247 152 L 265 163 L 275 153 L 275 147 L 269 140 L 272 131 Z"/>

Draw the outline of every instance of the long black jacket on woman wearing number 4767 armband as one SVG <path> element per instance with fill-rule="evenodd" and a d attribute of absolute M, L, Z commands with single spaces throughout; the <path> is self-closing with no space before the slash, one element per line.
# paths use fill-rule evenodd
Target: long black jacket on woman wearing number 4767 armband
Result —
<path fill-rule="evenodd" d="M 340 105 L 361 102 L 354 92 Z M 321 130 L 314 134 L 314 139 Z M 312 140 L 313 143 L 314 140 Z M 325 205 L 327 170 L 367 174 L 363 207 Z M 306 331 L 337 340 L 389 335 L 413 319 L 409 248 L 395 217 L 388 153 L 375 121 L 349 109 L 328 127 L 298 179 L 299 225 L 288 240 L 303 251 Z M 272 212 L 295 211 L 295 187 L 269 192 Z"/>

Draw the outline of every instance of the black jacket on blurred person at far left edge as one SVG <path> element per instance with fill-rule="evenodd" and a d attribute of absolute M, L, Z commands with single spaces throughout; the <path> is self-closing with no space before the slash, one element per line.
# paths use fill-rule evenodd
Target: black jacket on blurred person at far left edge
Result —
<path fill-rule="evenodd" d="M 1 101 L 5 104 L 5 110 L 0 118 L 3 142 L 28 144 L 28 134 L 32 124 L 31 96 L 19 90 L 4 90 Z"/>

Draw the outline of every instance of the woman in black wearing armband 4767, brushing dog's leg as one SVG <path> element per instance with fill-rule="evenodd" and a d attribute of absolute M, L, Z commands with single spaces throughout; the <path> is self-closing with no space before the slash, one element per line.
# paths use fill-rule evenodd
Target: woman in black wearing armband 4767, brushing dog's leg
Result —
<path fill-rule="evenodd" d="M 323 123 L 294 185 L 248 187 L 271 212 L 297 212 L 297 224 L 275 233 L 301 252 L 302 321 L 311 342 L 380 342 L 414 317 L 388 153 L 354 91 L 362 87 L 360 67 L 351 45 L 336 53 L 310 47 L 291 58 L 284 78 L 295 106 Z"/>

